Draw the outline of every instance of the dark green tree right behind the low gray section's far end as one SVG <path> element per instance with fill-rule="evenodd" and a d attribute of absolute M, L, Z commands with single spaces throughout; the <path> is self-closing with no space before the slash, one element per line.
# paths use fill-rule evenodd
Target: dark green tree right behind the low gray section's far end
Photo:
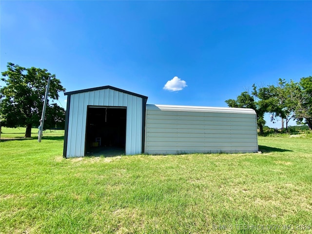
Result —
<path fill-rule="evenodd" d="M 254 88 L 256 88 L 254 86 Z M 263 126 L 265 124 L 263 107 L 259 104 L 259 102 L 255 101 L 254 95 L 250 95 L 248 92 L 242 92 L 239 96 L 237 96 L 236 100 L 228 99 L 225 102 L 229 107 L 235 108 L 251 108 L 257 114 L 257 125 L 259 126 L 260 134 L 263 134 Z"/>

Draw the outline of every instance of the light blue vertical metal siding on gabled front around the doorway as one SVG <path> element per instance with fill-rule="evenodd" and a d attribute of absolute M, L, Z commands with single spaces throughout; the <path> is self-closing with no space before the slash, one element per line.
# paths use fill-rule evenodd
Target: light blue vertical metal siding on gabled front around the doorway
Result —
<path fill-rule="evenodd" d="M 66 157 L 84 156 L 88 105 L 127 107 L 126 154 L 141 153 L 142 98 L 102 89 L 70 95 Z"/>

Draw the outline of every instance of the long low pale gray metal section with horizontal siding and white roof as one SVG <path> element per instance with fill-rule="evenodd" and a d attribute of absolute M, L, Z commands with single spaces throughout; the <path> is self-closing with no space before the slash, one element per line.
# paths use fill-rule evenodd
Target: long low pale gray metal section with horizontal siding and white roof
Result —
<path fill-rule="evenodd" d="M 147 105 L 145 152 L 256 152 L 254 110 Z"/>

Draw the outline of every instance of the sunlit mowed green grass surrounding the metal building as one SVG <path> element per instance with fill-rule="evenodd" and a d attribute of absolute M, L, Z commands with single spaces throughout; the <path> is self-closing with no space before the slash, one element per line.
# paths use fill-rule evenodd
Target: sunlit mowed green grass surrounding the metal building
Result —
<path fill-rule="evenodd" d="M 64 159 L 62 135 L 0 142 L 0 233 L 312 233 L 311 138 L 258 137 L 262 154 Z"/>

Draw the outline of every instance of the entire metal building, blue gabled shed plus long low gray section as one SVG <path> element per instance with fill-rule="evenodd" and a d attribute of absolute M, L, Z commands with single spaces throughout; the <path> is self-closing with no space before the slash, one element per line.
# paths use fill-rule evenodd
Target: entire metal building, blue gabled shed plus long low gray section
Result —
<path fill-rule="evenodd" d="M 146 96 L 112 86 L 65 95 L 64 157 L 116 148 L 126 155 L 258 151 L 252 109 L 147 105 Z"/>

